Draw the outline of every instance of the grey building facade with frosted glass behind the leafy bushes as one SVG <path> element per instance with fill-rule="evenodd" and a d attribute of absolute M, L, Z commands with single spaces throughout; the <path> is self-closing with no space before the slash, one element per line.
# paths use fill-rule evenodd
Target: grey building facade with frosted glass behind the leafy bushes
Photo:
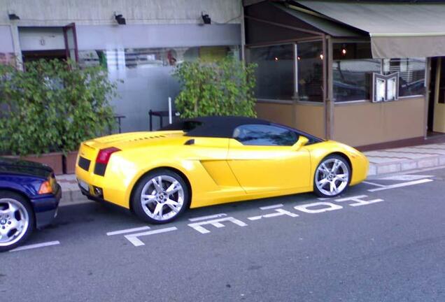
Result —
<path fill-rule="evenodd" d="M 178 94 L 176 64 L 239 56 L 241 8 L 239 0 L 0 0 L 0 62 L 102 65 L 120 80 L 111 104 L 125 116 L 122 131 L 147 130 L 148 111 L 167 110 Z"/>

